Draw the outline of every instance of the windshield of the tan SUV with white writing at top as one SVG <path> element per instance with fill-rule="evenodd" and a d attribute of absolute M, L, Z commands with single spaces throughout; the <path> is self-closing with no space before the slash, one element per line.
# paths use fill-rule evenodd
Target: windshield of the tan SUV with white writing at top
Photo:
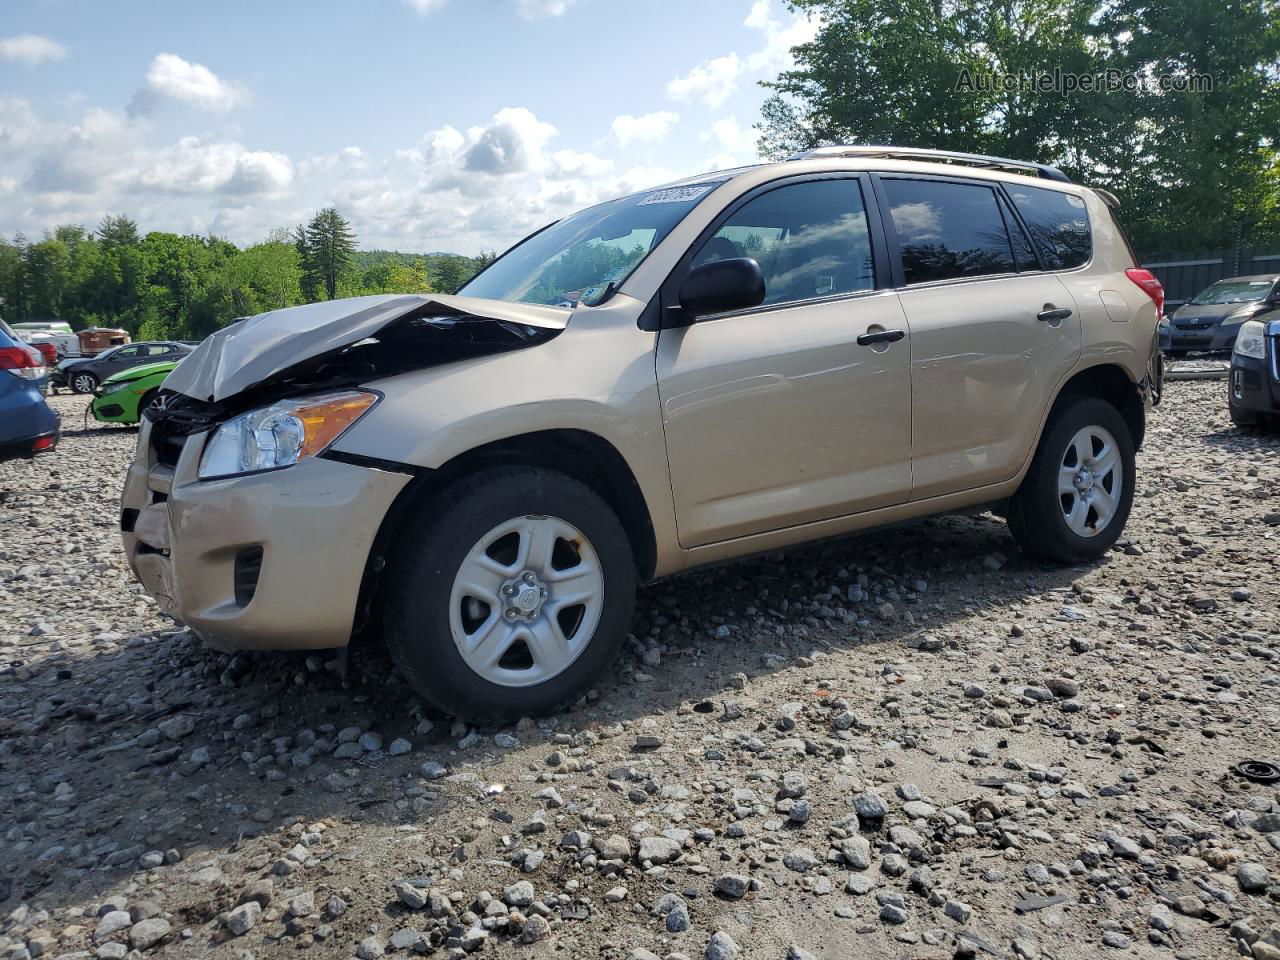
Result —
<path fill-rule="evenodd" d="M 723 180 L 588 207 L 521 241 L 458 293 L 575 307 L 602 302 Z"/>

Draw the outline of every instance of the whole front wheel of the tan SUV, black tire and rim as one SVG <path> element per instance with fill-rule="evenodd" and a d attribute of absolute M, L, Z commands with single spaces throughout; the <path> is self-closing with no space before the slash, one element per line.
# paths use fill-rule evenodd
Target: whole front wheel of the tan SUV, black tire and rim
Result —
<path fill-rule="evenodd" d="M 431 498 L 399 543 L 383 600 L 387 645 L 413 689 L 456 717 L 503 722 L 572 703 L 631 626 L 627 534 L 594 490 L 562 474 L 500 467 L 467 477 Z M 525 563 L 526 547 L 547 563 Z M 535 584 L 521 579 L 526 570 Z M 568 603 L 586 595 L 595 599 Z M 468 645 L 476 652 L 465 654 Z"/>

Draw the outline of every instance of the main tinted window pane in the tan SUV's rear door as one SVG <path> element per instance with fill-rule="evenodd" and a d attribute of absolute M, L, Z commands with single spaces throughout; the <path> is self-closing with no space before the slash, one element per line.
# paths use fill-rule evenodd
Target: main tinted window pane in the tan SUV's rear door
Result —
<path fill-rule="evenodd" d="M 996 192 L 950 180 L 881 180 L 908 284 L 1014 271 Z"/>

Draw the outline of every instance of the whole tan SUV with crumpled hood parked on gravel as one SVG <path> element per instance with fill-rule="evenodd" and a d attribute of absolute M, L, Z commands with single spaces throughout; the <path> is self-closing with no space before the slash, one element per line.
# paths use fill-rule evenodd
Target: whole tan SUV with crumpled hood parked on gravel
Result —
<path fill-rule="evenodd" d="M 824 147 L 600 204 L 458 296 L 214 334 L 148 412 L 124 544 L 221 648 L 383 626 L 470 718 L 604 671 L 637 581 L 986 506 L 1116 540 L 1162 292 L 1108 195 L 996 157 Z"/>

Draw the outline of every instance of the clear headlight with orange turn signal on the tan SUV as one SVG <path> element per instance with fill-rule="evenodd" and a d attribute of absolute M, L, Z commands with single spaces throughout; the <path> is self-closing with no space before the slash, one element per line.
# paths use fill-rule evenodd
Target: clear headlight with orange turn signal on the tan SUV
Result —
<path fill-rule="evenodd" d="M 378 403 L 366 390 L 323 393 L 251 410 L 219 426 L 200 458 L 200 479 L 291 467 L 323 453 Z"/>

